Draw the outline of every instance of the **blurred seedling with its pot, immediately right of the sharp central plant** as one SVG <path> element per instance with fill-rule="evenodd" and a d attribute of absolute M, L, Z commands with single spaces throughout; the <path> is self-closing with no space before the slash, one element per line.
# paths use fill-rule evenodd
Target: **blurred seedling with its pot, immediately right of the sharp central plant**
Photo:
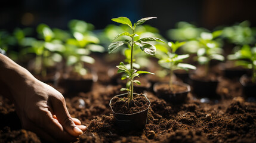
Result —
<path fill-rule="evenodd" d="M 158 82 L 154 85 L 154 91 L 159 97 L 172 103 L 183 103 L 187 100 L 187 94 L 190 92 L 190 86 L 182 82 L 174 82 L 173 74 L 174 70 L 195 70 L 196 67 L 191 64 L 181 63 L 185 58 L 189 57 L 189 54 L 178 55 L 175 52 L 185 42 L 168 42 L 171 50 L 165 50 L 164 54 L 158 63 L 169 70 L 169 83 Z"/>

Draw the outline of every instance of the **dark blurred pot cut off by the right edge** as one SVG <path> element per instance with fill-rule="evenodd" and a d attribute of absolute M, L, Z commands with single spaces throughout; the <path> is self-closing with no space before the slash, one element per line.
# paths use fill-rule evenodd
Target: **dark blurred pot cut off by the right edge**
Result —
<path fill-rule="evenodd" d="M 239 82 L 243 86 L 243 95 L 256 98 L 256 83 L 251 82 L 251 78 L 246 74 L 240 77 Z"/>

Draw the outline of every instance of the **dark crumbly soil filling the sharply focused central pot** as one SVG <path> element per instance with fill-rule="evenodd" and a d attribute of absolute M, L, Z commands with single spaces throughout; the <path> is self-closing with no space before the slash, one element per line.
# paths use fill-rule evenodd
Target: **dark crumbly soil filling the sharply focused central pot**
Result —
<path fill-rule="evenodd" d="M 149 101 L 147 101 L 144 95 L 140 94 L 134 96 L 134 99 L 129 102 L 129 107 L 127 97 L 114 97 L 110 105 L 115 113 L 131 114 L 146 110 L 149 104 Z"/>

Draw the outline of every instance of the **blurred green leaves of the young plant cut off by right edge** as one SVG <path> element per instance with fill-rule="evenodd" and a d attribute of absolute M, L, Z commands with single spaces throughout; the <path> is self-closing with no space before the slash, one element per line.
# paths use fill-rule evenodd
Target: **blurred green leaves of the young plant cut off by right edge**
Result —
<path fill-rule="evenodd" d="M 252 70 L 252 83 L 256 83 L 256 45 L 243 45 L 235 54 L 228 55 L 229 60 L 237 60 L 236 66 L 243 66 Z"/>

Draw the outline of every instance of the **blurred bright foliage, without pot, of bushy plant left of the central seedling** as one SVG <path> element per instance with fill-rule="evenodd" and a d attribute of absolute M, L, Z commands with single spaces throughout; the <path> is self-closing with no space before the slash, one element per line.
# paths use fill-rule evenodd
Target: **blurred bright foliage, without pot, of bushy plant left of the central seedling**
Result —
<path fill-rule="evenodd" d="M 69 23 L 73 38 L 66 41 L 66 50 L 62 53 L 66 58 L 67 66 L 73 66 L 76 73 L 84 76 L 88 73 L 84 63 L 93 64 L 92 52 L 103 52 L 103 46 L 98 45 L 100 40 L 92 33 L 93 25 L 81 20 L 72 20 Z"/>

